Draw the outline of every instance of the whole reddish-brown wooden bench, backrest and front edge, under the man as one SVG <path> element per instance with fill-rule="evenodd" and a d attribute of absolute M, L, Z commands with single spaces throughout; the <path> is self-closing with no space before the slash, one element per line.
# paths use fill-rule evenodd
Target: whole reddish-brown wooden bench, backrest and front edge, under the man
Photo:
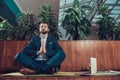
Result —
<path fill-rule="evenodd" d="M 14 60 L 28 41 L 0 41 L 0 74 L 18 71 L 20 66 Z M 89 70 L 91 57 L 97 58 L 98 70 L 120 70 L 120 41 L 79 40 L 63 41 L 59 44 L 66 53 L 60 71 L 80 72 Z M 10 80 L 11 77 L 0 77 Z M 99 77 L 13 77 L 13 80 L 120 80 L 120 76 Z"/>

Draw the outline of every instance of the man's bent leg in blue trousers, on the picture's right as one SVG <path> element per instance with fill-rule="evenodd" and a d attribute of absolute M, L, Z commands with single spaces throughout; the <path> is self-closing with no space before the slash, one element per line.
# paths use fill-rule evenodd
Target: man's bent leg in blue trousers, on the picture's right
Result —
<path fill-rule="evenodd" d="M 44 64 L 44 66 L 42 67 L 42 69 L 45 71 L 48 68 L 60 66 L 61 63 L 63 62 L 63 60 L 65 59 L 65 57 L 66 57 L 66 55 L 65 55 L 65 53 L 62 50 L 58 51 L 51 59 L 49 59 Z"/>

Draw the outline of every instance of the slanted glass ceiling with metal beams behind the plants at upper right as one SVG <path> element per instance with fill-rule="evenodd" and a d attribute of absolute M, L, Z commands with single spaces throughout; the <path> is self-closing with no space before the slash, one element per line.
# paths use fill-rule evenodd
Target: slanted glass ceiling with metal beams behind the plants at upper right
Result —
<path fill-rule="evenodd" d="M 72 6 L 73 0 L 60 0 L 59 21 L 63 18 L 63 12 L 65 8 Z M 90 5 L 93 9 L 86 10 L 88 19 L 92 24 L 97 21 L 98 6 L 107 4 L 109 6 L 109 14 L 114 18 L 116 26 L 120 25 L 120 0 L 79 0 L 80 4 Z"/>

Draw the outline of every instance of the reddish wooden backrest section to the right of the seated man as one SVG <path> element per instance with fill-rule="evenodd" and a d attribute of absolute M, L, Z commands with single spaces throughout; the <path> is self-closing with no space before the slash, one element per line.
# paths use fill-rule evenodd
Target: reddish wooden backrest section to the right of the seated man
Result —
<path fill-rule="evenodd" d="M 63 71 L 89 69 L 91 57 L 97 58 L 98 70 L 120 70 L 120 41 L 59 41 L 67 58 Z M 67 63 L 67 64 L 66 64 Z"/>

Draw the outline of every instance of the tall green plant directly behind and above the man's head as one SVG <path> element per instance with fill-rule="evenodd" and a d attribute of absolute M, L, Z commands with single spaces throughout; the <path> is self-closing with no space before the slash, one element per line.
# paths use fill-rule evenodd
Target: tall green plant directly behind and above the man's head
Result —
<path fill-rule="evenodd" d="M 57 39 L 59 39 L 59 37 L 62 37 L 60 31 L 58 30 L 54 13 L 51 9 L 50 4 L 44 4 L 39 9 L 41 12 L 38 16 L 39 21 L 48 23 L 50 28 L 50 34 L 52 36 L 56 37 Z"/>

